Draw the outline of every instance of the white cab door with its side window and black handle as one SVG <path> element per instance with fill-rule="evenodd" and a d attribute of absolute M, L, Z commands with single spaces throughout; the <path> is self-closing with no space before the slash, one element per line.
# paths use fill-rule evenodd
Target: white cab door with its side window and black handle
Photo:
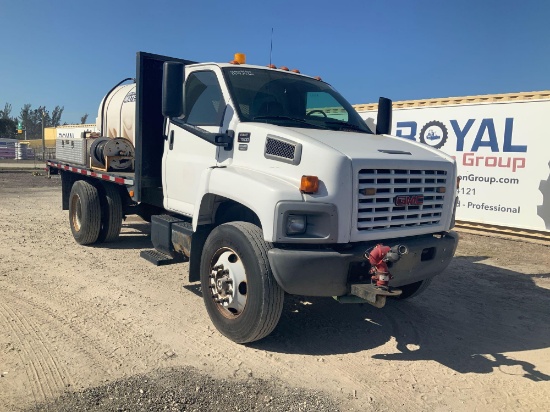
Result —
<path fill-rule="evenodd" d="M 191 72 L 185 80 L 186 123 L 219 133 L 225 103 L 216 73 Z M 219 148 L 170 123 L 163 156 L 164 207 L 192 216 L 203 173 L 216 166 Z"/>

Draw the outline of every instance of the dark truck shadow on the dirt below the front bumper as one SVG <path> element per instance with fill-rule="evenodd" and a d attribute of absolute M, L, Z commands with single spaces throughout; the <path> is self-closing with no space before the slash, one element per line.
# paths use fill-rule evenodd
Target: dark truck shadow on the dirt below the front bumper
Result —
<path fill-rule="evenodd" d="M 381 360 L 434 360 L 459 373 L 504 373 L 533 381 L 550 376 L 504 355 L 550 346 L 550 290 L 535 278 L 457 257 L 427 291 L 383 309 L 330 298 L 287 296 L 272 335 L 251 346 L 272 352 L 334 355 L 369 350 Z M 392 338 L 396 353 L 376 354 Z"/>

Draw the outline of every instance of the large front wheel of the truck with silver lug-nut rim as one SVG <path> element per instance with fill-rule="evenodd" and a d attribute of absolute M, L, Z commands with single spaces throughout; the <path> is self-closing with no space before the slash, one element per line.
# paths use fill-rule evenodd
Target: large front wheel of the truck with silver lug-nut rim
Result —
<path fill-rule="evenodd" d="M 204 304 L 214 326 L 234 342 L 266 337 L 281 317 L 284 292 L 271 272 L 269 249 L 262 230 L 248 222 L 216 227 L 204 245 Z"/>

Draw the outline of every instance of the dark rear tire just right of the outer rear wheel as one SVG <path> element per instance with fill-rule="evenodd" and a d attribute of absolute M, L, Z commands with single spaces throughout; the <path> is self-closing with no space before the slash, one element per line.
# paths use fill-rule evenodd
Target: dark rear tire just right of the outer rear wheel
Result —
<path fill-rule="evenodd" d="M 118 187 L 103 184 L 101 193 L 101 229 L 98 242 L 114 242 L 122 228 L 122 200 Z"/>

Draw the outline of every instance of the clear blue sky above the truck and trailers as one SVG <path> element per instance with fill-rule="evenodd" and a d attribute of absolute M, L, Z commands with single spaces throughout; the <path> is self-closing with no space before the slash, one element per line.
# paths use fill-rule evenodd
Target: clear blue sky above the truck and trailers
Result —
<path fill-rule="evenodd" d="M 135 53 L 269 62 L 319 75 L 351 103 L 550 89 L 546 0 L 0 0 L 0 109 L 95 121 Z"/>

